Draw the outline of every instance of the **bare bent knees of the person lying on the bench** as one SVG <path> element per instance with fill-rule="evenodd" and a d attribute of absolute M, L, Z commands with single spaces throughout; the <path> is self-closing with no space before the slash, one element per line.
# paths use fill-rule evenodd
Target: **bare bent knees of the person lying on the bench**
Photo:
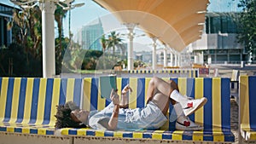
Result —
<path fill-rule="evenodd" d="M 153 101 L 166 114 L 169 108 L 169 102 L 172 91 L 177 89 L 177 84 L 170 80 L 166 82 L 161 78 L 152 78 L 148 84 L 147 103 Z M 175 104 L 176 101 L 172 101 Z"/>

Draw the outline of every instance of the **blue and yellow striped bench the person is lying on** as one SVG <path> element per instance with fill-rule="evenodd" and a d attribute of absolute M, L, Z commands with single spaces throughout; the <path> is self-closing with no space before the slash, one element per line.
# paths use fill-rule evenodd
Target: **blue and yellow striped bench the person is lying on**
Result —
<path fill-rule="evenodd" d="M 169 78 L 164 78 L 168 80 Z M 194 98 L 207 97 L 205 107 L 189 116 L 197 123 L 204 125 L 201 131 L 175 130 L 175 122 L 168 121 L 160 130 L 92 130 L 90 128 L 64 128 L 61 135 L 73 136 L 75 143 L 98 140 L 113 142 L 124 141 L 197 141 L 232 143 L 235 136 L 230 130 L 230 78 L 172 78 L 177 82 L 180 92 Z M 144 107 L 150 78 L 118 78 L 118 89 L 130 84 L 133 92 L 130 95 L 130 108 Z M 109 101 L 102 99 L 98 78 L 84 78 L 81 108 L 85 110 L 102 110 Z M 120 93 L 121 90 L 119 90 Z M 172 112 L 172 105 L 169 107 Z M 169 118 L 169 112 L 167 118 Z M 82 141 L 83 140 L 83 141 Z"/>

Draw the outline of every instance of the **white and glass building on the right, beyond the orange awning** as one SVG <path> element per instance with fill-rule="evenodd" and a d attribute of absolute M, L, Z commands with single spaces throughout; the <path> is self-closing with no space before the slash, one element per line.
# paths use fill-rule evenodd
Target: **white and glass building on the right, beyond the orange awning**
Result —
<path fill-rule="evenodd" d="M 238 13 L 207 13 L 201 39 L 189 45 L 195 63 L 240 63 L 247 60 L 244 46 L 237 41 Z"/>

